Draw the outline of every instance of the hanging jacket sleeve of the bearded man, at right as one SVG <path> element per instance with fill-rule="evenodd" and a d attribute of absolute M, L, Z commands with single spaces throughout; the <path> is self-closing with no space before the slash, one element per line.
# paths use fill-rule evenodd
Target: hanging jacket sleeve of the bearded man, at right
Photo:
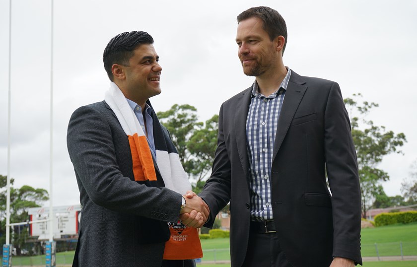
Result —
<path fill-rule="evenodd" d="M 330 89 L 325 110 L 325 157 L 333 208 L 333 256 L 361 264 L 360 189 L 356 151 L 348 112 L 337 83 Z"/>

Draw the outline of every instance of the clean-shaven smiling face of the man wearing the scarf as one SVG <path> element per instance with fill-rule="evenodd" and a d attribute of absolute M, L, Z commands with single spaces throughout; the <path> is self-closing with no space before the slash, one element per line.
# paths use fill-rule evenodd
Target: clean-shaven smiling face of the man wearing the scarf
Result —
<path fill-rule="evenodd" d="M 134 50 L 129 66 L 119 66 L 123 77 L 119 88 L 126 98 L 144 104 L 150 97 L 161 93 L 159 78 L 162 67 L 153 45 L 143 44 Z"/>

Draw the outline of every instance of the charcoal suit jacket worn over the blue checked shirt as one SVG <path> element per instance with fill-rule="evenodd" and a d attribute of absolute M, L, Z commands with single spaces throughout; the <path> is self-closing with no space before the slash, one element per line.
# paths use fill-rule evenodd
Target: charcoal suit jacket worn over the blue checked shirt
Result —
<path fill-rule="evenodd" d="M 230 201 L 234 267 L 242 265 L 251 245 L 246 140 L 251 92 L 252 87 L 222 104 L 212 174 L 200 194 L 210 208 L 208 227 Z M 296 267 L 329 266 L 333 256 L 361 263 L 357 160 L 337 83 L 291 72 L 271 173 L 274 221 L 287 260 Z"/>

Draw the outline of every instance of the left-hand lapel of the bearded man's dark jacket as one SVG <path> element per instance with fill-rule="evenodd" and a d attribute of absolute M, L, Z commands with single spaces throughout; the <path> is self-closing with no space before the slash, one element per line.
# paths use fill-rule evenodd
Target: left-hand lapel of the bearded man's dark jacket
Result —
<path fill-rule="evenodd" d="M 246 89 L 237 99 L 237 107 L 235 113 L 235 136 L 236 145 L 239 153 L 240 163 L 242 164 L 243 172 L 246 179 L 248 179 L 249 159 L 246 149 L 246 118 L 249 112 L 249 104 L 251 102 L 252 86 Z"/>

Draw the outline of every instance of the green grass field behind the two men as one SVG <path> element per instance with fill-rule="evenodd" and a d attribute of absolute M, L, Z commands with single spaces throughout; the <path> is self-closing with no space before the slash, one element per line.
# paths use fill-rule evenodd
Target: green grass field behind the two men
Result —
<path fill-rule="evenodd" d="M 362 257 L 376 257 L 375 243 L 380 257 L 400 256 L 400 242 L 403 246 L 403 255 L 417 255 L 417 223 L 408 225 L 390 225 L 377 228 L 362 229 L 361 253 Z M 226 264 L 204 264 L 205 261 L 230 260 L 229 239 L 203 239 L 201 241 L 204 251 L 202 267 L 229 267 Z M 71 264 L 74 252 L 57 253 L 57 264 Z M 13 257 L 13 266 L 45 265 L 45 255 L 34 257 Z M 365 262 L 365 267 L 417 267 L 417 262 Z"/>

